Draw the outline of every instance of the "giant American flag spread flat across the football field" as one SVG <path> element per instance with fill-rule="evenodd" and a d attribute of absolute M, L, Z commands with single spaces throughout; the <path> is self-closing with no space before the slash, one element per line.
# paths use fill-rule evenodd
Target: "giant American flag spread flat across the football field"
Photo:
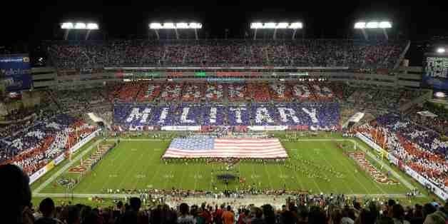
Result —
<path fill-rule="evenodd" d="M 174 138 L 162 158 L 287 158 L 278 138 Z"/>

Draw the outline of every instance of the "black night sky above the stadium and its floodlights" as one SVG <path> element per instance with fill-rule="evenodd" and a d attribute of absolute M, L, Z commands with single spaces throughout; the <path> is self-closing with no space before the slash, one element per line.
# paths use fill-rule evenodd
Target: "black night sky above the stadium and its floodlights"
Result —
<path fill-rule="evenodd" d="M 390 36 L 414 48 L 432 36 L 448 36 L 442 1 L 8 1 L 2 6 L 0 46 L 61 39 L 68 19 L 98 21 L 108 38 L 144 37 L 151 21 L 198 21 L 210 38 L 243 38 L 251 21 L 302 21 L 305 38 L 346 38 L 358 19 L 390 19 Z M 434 4 L 437 3 L 437 4 Z M 360 35 L 360 34 L 358 34 Z M 412 58 L 412 56 L 410 56 Z M 416 56 L 417 58 L 419 56 Z M 415 60 L 414 60 L 415 61 Z"/>

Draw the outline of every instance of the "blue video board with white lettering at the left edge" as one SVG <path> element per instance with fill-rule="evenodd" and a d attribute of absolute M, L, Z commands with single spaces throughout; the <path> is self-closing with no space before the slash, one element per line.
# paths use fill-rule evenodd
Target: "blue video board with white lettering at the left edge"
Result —
<path fill-rule="evenodd" d="M 6 91 L 31 88 L 31 66 L 28 54 L 0 56 L 0 76 Z"/>

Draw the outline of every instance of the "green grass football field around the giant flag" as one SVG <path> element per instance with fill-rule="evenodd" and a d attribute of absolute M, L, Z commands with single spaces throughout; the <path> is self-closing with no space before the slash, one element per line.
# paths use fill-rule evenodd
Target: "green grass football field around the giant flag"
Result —
<path fill-rule="evenodd" d="M 355 149 L 355 144 L 357 145 Z M 169 141 L 145 138 L 122 139 L 99 163 L 73 188 L 73 193 L 99 194 L 104 189 L 171 189 L 189 190 L 231 190 L 241 188 L 307 190 L 311 193 L 345 193 L 369 195 L 395 195 L 409 192 L 409 183 L 390 175 L 395 183 L 380 183 L 372 174 L 348 154 L 363 152 L 365 145 L 355 138 L 301 138 L 298 141 L 282 141 L 289 159 L 285 163 L 263 163 L 259 161 L 240 161 L 230 170 L 225 163 L 206 163 L 205 161 L 178 161 L 165 163 L 161 156 L 168 148 Z M 91 147 L 96 148 L 95 143 Z M 88 151 L 88 149 L 84 149 Z M 86 153 L 88 156 L 88 153 Z M 84 158 L 86 156 L 83 156 Z M 375 156 L 365 156 L 373 168 L 386 174 Z M 65 164 L 65 163 L 64 163 Z M 67 166 L 79 164 L 74 159 Z M 60 168 L 62 169 L 62 168 Z M 51 173 L 39 180 L 35 193 L 66 193 L 61 178 L 71 178 L 67 170 L 59 170 L 60 175 Z M 233 173 L 243 181 L 228 185 L 216 178 L 220 173 Z M 399 173 L 404 176 L 404 174 Z M 406 181 L 404 180 L 404 181 Z M 412 186 L 411 186 L 412 187 Z M 37 191 L 37 192 L 36 192 Z"/>

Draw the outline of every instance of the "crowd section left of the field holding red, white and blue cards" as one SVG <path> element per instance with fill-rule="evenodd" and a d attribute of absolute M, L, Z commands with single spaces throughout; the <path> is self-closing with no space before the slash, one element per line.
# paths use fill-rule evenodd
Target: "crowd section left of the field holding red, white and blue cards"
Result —
<path fill-rule="evenodd" d="M 63 113 L 13 123 L 1 129 L 0 164 L 14 163 L 31 175 L 95 130 Z"/>

